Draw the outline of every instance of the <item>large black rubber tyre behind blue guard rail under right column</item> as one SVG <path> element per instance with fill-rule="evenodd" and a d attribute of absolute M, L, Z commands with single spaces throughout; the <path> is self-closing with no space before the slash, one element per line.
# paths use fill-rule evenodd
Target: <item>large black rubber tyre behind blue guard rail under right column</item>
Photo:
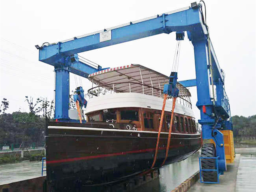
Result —
<path fill-rule="evenodd" d="M 205 143 L 202 146 L 201 157 L 216 157 L 216 149 L 213 143 Z M 201 159 L 202 169 L 216 169 L 215 159 Z M 217 182 L 216 171 L 202 171 L 204 181 Z"/>

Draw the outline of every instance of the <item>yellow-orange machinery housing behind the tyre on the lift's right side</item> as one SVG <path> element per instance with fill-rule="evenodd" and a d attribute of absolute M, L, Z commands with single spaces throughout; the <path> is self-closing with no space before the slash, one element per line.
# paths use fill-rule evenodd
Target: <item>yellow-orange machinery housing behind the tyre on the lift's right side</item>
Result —
<path fill-rule="evenodd" d="M 235 159 L 235 147 L 234 147 L 234 139 L 233 139 L 233 131 L 231 130 L 220 130 L 224 137 L 224 147 L 225 147 L 225 156 L 226 163 L 233 163 Z M 211 143 L 215 142 L 211 139 Z"/>

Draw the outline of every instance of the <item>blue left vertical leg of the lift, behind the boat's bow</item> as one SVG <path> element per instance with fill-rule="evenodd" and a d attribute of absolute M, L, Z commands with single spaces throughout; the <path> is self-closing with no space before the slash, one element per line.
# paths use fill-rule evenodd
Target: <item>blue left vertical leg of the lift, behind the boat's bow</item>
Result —
<path fill-rule="evenodd" d="M 68 121 L 69 109 L 69 70 L 67 68 L 56 68 L 55 79 L 55 119 Z"/>

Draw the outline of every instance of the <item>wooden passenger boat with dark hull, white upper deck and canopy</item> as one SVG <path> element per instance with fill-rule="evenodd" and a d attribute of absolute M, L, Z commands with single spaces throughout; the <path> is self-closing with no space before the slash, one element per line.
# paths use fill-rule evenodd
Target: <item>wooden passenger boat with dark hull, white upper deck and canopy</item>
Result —
<path fill-rule="evenodd" d="M 48 122 L 46 127 L 47 180 L 54 186 L 111 183 L 150 170 L 153 163 L 162 90 L 169 77 L 141 65 L 129 65 L 91 74 L 89 79 L 98 86 L 88 91 L 94 97 L 85 110 L 87 122 Z M 181 84 L 178 88 L 164 165 L 186 159 L 201 147 L 190 92 Z M 154 168 L 164 161 L 171 108 L 169 98 Z"/>

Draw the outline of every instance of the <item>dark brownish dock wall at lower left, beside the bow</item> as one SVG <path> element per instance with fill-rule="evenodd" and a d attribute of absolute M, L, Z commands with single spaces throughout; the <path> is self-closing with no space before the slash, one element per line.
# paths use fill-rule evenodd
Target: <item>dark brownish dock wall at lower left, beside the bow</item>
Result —
<path fill-rule="evenodd" d="M 45 176 L 0 185 L 0 192 L 42 192 Z"/>

